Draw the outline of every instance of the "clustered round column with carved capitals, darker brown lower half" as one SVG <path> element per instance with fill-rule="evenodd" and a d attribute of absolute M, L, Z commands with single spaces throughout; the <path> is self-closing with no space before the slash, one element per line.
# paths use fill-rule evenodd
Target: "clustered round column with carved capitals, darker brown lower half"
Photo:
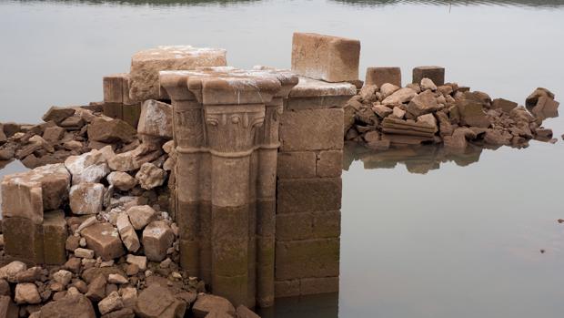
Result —
<path fill-rule="evenodd" d="M 297 77 L 201 67 L 160 80 L 175 111 L 182 264 L 236 305 L 271 304 L 277 121 Z"/>

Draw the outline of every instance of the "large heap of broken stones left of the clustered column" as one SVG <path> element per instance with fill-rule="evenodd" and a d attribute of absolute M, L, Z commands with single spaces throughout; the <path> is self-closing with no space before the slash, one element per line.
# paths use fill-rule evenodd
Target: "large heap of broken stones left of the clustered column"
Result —
<path fill-rule="evenodd" d="M 2 159 L 37 168 L 2 181 L 1 317 L 257 317 L 180 268 L 170 105 L 137 129 L 96 106 L 44 121 L 2 130 Z"/>

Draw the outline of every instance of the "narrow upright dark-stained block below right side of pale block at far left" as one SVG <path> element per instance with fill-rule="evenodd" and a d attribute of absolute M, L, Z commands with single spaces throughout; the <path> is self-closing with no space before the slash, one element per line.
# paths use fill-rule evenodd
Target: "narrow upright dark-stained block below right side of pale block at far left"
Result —
<path fill-rule="evenodd" d="M 43 221 L 44 262 L 47 265 L 61 265 L 66 262 L 65 212 L 55 210 L 45 212 Z"/>

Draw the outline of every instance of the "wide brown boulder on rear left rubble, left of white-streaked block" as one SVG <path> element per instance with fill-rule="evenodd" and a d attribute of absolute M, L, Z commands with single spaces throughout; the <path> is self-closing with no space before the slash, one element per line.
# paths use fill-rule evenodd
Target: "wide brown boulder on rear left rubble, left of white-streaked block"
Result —
<path fill-rule="evenodd" d="M 100 142 L 131 142 L 136 137 L 136 133 L 135 128 L 121 119 L 96 118 L 88 125 L 88 138 Z"/>

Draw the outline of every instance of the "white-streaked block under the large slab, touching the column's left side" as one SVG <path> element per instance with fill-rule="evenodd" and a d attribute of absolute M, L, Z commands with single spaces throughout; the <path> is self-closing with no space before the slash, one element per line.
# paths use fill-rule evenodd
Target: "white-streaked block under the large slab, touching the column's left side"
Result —
<path fill-rule="evenodd" d="M 146 100 L 141 106 L 137 132 L 149 136 L 172 138 L 172 107 L 154 99 Z"/>

